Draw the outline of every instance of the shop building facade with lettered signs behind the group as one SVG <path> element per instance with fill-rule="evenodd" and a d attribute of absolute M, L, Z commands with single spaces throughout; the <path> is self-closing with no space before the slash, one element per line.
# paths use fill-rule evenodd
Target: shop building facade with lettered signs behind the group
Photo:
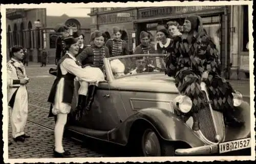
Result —
<path fill-rule="evenodd" d="M 139 35 L 141 31 L 148 31 L 155 36 L 159 25 L 164 25 L 167 28 L 166 24 L 168 21 L 176 20 L 180 24 L 183 24 L 186 16 L 191 14 L 200 15 L 203 19 L 203 28 L 213 39 L 220 52 L 222 69 L 226 70 L 223 71 L 223 75 L 226 78 L 239 78 L 231 71 L 233 68 L 238 68 L 237 65 L 241 66 L 242 64 L 242 62 L 237 62 L 238 64 L 236 66 L 233 65 L 234 59 L 238 58 L 236 54 L 240 57 L 243 56 L 239 58 L 244 62 L 243 65 L 248 63 L 248 61 L 246 61 L 244 53 L 238 54 L 231 50 L 234 46 L 240 45 L 240 42 L 233 42 L 233 40 L 230 39 L 232 35 L 234 35 L 234 26 L 230 25 L 230 23 L 232 23 L 231 20 L 233 19 L 241 20 L 238 16 L 244 15 L 244 17 L 246 17 L 246 14 L 242 14 L 244 10 L 241 9 L 240 13 L 237 13 L 233 8 L 237 9 L 237 7 L 231 6 L 91 8 L 91 13 L 88 15 L 92 17 L 91 31 L 96 29 L 101 30 L 109 36 L 109 38 L 113 35 L 113 26 L 119 26 L 123 32 L 122 39 L 129 44 L 131 51 L 140 44 Z M 240 6 L 239 8 L 243 7 Z M 234 18 L 236 15 L 237 18 Z M 239 24 L 239 32 L 237 31 L 237 33 L 239 33 L 238 35 L 240 35 L 241 40 L 240 31 L 244 28 L 242 27 L 243 23 Z M 248 36 L 248 32 L 244 34 Z M 154 38 L 153 43 L 155 41 Z M 239 67 L 240 72 L 241 68 L 242 67 Z"/>

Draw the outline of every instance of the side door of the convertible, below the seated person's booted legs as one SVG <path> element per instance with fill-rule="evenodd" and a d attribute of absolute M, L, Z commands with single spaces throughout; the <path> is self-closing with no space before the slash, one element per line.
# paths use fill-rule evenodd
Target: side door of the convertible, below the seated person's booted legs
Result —
<path fill-rule="evenodd" d="M 120 111 L 123 111 L 123 105 L 118 89 L 110 87 L 109 83 L 100 83 L 84 124 L 90 129 L 111 130 L 122 122 Z"/>

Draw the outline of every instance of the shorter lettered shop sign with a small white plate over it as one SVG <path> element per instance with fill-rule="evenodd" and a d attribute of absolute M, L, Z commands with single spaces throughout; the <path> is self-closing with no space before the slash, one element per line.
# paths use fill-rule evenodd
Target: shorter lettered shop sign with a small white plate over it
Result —
<path fill-rule="evenodd" d="M 130 15 L 130 16 L 127 16 Z M 125 22 L 125 21 L 132 21 L 134 17 L 132 16 L 132 12 L 125 12 L 125 13 L 111 13 L 111 14 L 104 14 L 99 15 L 98 17 L 98 24 L 109 24 L 109 23 L 118 23 L 118 22 Z"/>

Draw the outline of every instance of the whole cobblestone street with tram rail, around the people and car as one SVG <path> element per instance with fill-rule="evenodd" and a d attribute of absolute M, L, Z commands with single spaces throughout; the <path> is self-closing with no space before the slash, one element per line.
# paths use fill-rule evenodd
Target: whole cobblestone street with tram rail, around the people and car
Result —
<path fill-rule="evenodd" d="M 13 144 L 9 146 L 9 158 L 51 158 L 54 147 L 54 119 L 48 118 L 49 106 L 47 98 L 54 81 L 54 76 L 48 73 L 48 65 L 40 67 L 39 64 L 32 64 L 26 67 L 30 82 L 27 85 L 29 92 L 29 113 L 25 132 L 31 135 L 24 143 L 14 142 L 11 136 L 9 124 L 8 138 Z M 249 81 L 231 81 L 231 85 L 238 89 L 243 95 L 249 95 Z M 247 100 L 248 101 L 248 100 Z M 39 125 L 38 125 L 39 124 Z M 91 142 L 91 139 L 84 143 L 65 137 L 63 146 L 72 154 L 71 157 L 111 157 L 119 156 L 122 151 L 110 151 L 116 146 Z M 113 148 L 112 148 L 113 146 Z M 118 153 L 117 153 L 118 152 Z"/>

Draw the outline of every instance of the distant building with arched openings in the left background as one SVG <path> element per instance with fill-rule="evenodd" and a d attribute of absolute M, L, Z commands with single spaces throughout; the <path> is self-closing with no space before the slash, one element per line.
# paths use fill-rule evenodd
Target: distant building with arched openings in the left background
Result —
<path fill-rule="evenodd" d="M 90 17 L 48 16 L 46 8 L 7 9 L 7 58 L 10 48 L 21 45 L 28 49 L 29 61 L 40 62 L 41 50 L 48 52 L 48 63 L 53 64 L 57 34 L 54 31 L 59 23 L 65 23 L 69 32 L 80 30 L 85 36 L 84 44 L 90 44 Z"/>

